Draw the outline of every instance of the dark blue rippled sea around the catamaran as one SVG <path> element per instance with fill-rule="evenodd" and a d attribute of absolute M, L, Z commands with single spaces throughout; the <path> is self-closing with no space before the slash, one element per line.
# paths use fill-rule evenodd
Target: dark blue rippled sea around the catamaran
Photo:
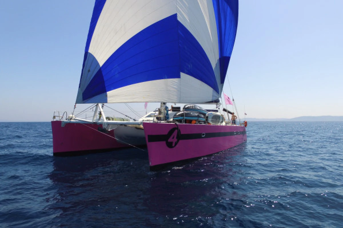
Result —
<path fill-rule="evenodd" d="M 343 122 L 248 124 L 150 171 L 138 149 L 54 157 L 50 123 L 0 123 L 0 227 L 343 227 Z"/>

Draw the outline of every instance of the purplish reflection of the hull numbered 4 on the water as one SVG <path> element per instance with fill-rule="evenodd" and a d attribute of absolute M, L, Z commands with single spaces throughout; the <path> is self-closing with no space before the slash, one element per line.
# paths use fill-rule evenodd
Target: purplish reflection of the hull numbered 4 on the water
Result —
<path fill-rule="evenodd" d="M 226 211 L 223 200 L 242 198 L 232 185 L 237 178 L 242 178 L 235 176 L 237 171 L 232 164 L 237 156 L 232 152 L 225 151 L 157 172 L 152 177 L 146 205 L 151 211 L 173 217 L 180 213 L 190 217 L 213 217 L 220 209 Z"/>

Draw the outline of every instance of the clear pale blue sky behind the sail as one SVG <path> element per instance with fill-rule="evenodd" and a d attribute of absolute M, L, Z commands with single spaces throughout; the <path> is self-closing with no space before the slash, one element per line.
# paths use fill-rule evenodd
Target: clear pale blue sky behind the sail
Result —
<path fill-rule="evenodd" d="M 0 121 L 72 110 L 93 5 L 0 1 Z M 244 107 L 250 118 L 343 116 L 342 9 L 341 0 L 240 1 L 227 78 L 241 116 Z"/>

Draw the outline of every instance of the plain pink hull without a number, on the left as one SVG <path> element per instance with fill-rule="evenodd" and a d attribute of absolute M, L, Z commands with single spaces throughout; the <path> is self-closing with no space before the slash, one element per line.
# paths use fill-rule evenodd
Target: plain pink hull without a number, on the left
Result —
<path fill-rule="evenodd" d="M 98 131 L 101 124 L 67 123 L 51 121 L 54 155 L 63 152 L 105 150 L 126 147 L 114 138 L 113 130 L 108 133 Z"/>

